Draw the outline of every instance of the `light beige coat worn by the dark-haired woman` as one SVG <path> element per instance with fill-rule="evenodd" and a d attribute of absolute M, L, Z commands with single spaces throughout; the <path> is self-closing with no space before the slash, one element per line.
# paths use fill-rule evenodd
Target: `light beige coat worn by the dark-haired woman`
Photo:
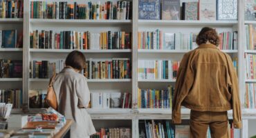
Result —
<path fill-rule="evenodd" d="M 72 68 L 64 68 L 56 77 L 53 88 L 57 96 L 58 111 L 73 119 L 71 137 L 83 138 L 95 133 L 95 128 L 86 108 L 90 101 L 90 91 L 86 78 Z"/>

